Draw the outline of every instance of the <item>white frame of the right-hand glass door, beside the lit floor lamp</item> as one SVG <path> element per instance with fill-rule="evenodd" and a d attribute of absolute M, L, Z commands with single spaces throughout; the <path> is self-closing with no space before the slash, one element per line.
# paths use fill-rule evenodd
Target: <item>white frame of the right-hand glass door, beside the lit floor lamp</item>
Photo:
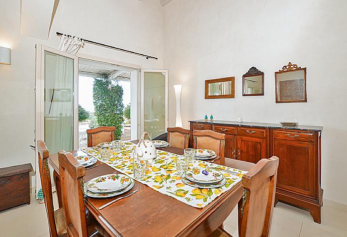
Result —
<path fill-rule="evenodd" d="M 165 131 L 168 127 L 168 70 L 167 69 L 141 69 L 141 134 L 144 132 L 144 73 L 145 72 L 164 72 L 165 73 Z"/>

